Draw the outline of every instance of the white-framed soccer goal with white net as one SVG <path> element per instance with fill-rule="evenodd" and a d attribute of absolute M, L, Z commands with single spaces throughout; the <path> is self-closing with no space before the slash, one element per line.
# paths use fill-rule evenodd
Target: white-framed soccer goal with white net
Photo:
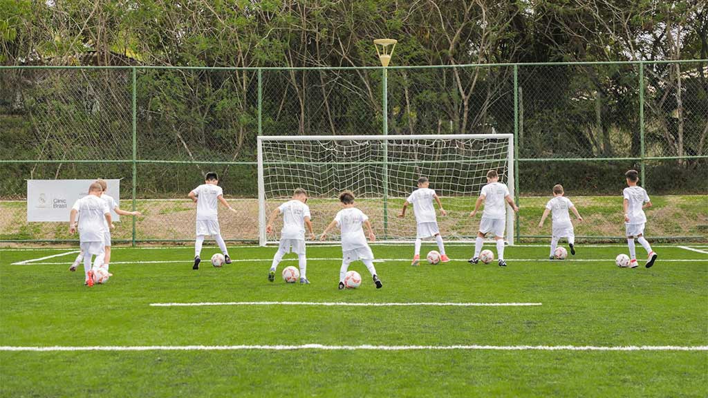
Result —
<path fill-rule="evenodd" d="M 474 219 L 469 212 L 486 172 L 496 169 L 514 195 L 513 153 L 511 134 L 258 137 L 258 240 L 261 245 L 278 241 L 282 220 L 273 220 L 273 233 L 266 234 L 267 217 L 295 188 L 304 188 L 315 234 L 341 209 L 338 194 L 349 190 L 370 217 L 377 241 L 413 241 L 412 207 L 405 218 L 398 215 L 418 177 L 426 176 L 447 210 L 446 217 L 438 213 L 442 237 L 474 241 L 481 210 Z M 514 214 L 507 206 L 509 244 L 513 236 Z"/>

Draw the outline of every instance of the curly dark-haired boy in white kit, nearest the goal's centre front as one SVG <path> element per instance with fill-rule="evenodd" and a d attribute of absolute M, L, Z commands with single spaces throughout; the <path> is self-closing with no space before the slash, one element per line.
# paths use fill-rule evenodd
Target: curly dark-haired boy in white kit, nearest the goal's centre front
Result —
<path fill-rule="evenodd" d="M 352 261 L 361 260 L 366 266 L 374 279 L 376 288 L 382 288 L 383 284 L 376 274 L 376 268 L 374 268 L 374 254 L 366 243 L 366 237 L 364 236 L 364 229 L 362 225 L 366 225 L 369 231 L 369 239 L 371 241 L 376 241 L 373 229 L 371 229 L 371 222 L 369 222 L 369 217 L 365 215 L 361 210 L 354 207 L 354 194 L 345 191 L 339 195 L 339 201 L 342 203 L 342 210 L 339 210 L 334 220 L 329 223 L 329 225 L 324 229 L 320 240 L 324 240 L 330 229 L 334 227 L 339 227 L 341 229 L 341 239 L 342 239 L 342 266 L 339 268 L 339 290 L 344 288 L 344 277 L 347 274 L 347 269 Z"/>

